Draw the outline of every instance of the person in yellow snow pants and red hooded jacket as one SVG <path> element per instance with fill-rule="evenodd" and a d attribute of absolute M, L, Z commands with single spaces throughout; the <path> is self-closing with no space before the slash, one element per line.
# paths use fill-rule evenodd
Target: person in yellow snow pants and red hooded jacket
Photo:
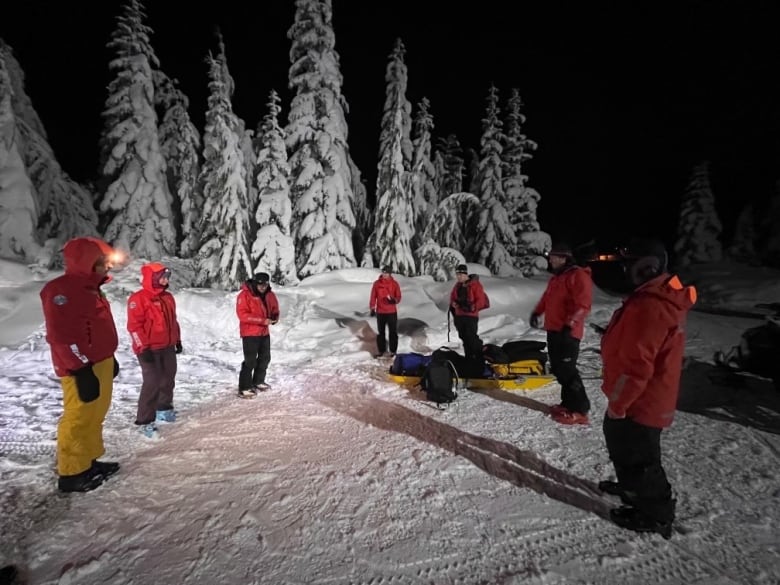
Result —
<path fill-rule="evenodd" d="M 111 406 L 119 364 L 111 305 L 100 287 L 109 282 L 114 250 L 98 238 L 69 240 L 62 250 L 65 273 L 41 289 L 46 341 L 62 386 L 57 426 L 61 492 L 87 492 L 119 471 L 98 460 L 105 453 L 103 421 Z"/>

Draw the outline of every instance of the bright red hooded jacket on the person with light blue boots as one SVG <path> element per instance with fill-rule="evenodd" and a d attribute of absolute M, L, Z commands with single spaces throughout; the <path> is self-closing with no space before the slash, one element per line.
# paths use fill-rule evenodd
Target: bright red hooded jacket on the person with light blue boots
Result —
<path fill-rule="evenodd" d="M 147 349 L 164 349 L 181 342 L 176 301 L 165 288 L 153 284 L 153 276 L 163 270 L 165 266 L 158 262 L 141 266 L 143 288 L 127 299 L 127 330 L 136 355 Z"/>

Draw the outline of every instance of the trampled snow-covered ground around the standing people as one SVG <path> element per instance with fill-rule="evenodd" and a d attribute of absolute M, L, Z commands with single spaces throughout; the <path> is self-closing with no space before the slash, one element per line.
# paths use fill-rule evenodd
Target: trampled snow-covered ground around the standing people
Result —
<path fill-rule="evenodd" d="M 184 353 L 179 420 L 157 441 L 133 425 L 140 368 L 125 330 L 139 265 L 105 287 L 122 371 L 105 425 L 120 473 L 94 492 L 56 490 L 61 391 L 43 339 L 38 290 L 54 274 L 0 262 L 0 566 L 30 584 L 761 584 L 780 583 L 780 394 L 724 374 L 714 350 L 759 322 L 694 312 L 680 412 L 663 434 L 678 500 L 671 540 L 605 518 L 618 504 L 601 434 L 598 338 L 581 372 L 588 427 L 552 422 L 551 384 L 529 392 L 464 390 L 440 411 L 385 378 L 367 317 L 377 271 L 342 270 L 276 288 L 273 389 L 235 395 L 241 362 L 235 293 L 186 288 L 171 261 Z M 780 274 L 735 266 L 686 275 L 703 306 L 780 300 Z M 453 285 L 397 277 L 399 351 L 447 341 Z M 485 341 L 543 339 L 527 316 L 546 277 L 482 277 Z M 619 299 L 599 292 L 590 321 Z"/>

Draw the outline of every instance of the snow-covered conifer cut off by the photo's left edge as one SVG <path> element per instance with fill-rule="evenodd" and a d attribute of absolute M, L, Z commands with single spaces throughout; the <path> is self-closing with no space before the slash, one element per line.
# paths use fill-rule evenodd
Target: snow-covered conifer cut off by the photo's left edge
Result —
<path fill-rule="evenodd" d="M 31 262 L 41 250 L 36 240 L 38 208 L 35 188 L 24 165 L 12 91 L 0 54 L 0 258 Z"/>

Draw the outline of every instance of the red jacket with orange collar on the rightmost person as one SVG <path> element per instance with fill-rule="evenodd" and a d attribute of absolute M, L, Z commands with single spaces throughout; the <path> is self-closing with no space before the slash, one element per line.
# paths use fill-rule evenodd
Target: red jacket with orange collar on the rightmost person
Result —
<path fill-rule="evenodd" d="M 609 410 L 648 427 L 672 424 L 680 390 L 685 321 L 696 289 L 662 274 L 615 311 L 601 338 Z"/>

